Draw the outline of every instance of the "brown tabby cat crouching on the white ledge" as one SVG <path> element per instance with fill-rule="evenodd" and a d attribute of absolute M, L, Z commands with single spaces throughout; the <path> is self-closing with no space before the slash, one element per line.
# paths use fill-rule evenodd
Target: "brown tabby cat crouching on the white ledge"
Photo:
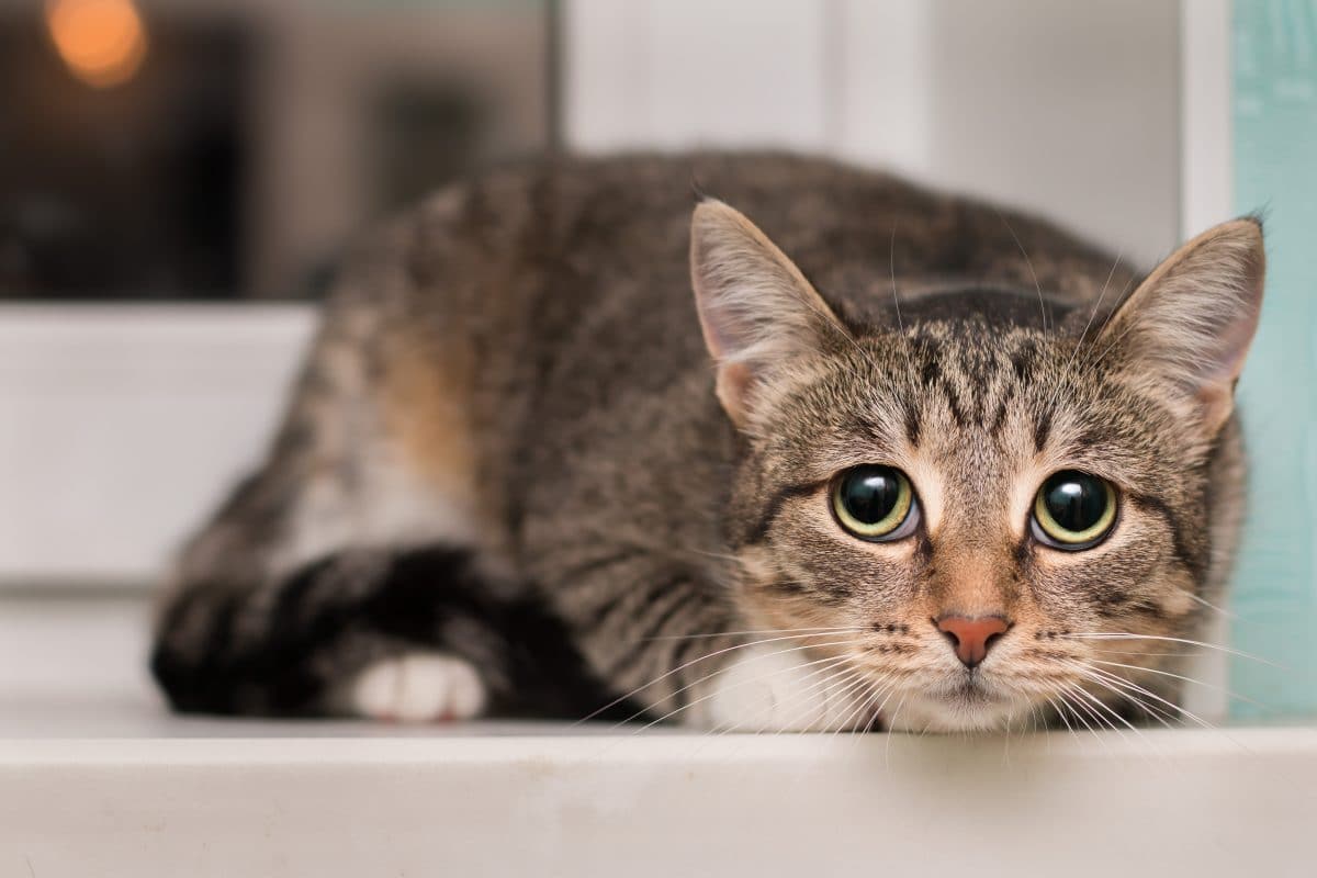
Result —
<path fill-rule="evenodd" d="M 809 282 L 718 203 L 691 251 L 693 182 Z M 269 459 L 179 563 L 157 675 L 180 708 L 255 713 L 579 715 L 631 694 L 703 725 L 863 728 L 897 694 L 905 724 L 959 728 L 1062 699 L 1101 716 L 1080 688 L 1123 710 L 1119 683 L 1031 700 L 1002 681 L 1046 677 L 1015 641 L 1192 638 L 1185 595 L 1222 586 L 1234 424 L 1141 383 L 1122 346 L 1141 326 L 1109 325 L 1137 279 L 1046 224 L 803 158 L 569 161 L 450 187 L 349 263 Z M 824 521 L 838 473 L 893 462 L 911 536 Z M 1056 469 L 1117 486 L 1093 553 L 1130 553 L 1104 562 L 1118 582 L 1056 566 L 1084 553 L 1025 557 Z M 1000 617 L 1018 631 L 996 654 L 1033 665 L 997 683 L 960 667 L 967 636 L 943 617 Z M 1131 684 L 1172 699 L 1151 653 L 1176 650 L 1119 645 L 1154 669 Z M 897 665 L 865 665 L 880 656 Z M 988 682 L 943 698 L 961 673 Z"/>

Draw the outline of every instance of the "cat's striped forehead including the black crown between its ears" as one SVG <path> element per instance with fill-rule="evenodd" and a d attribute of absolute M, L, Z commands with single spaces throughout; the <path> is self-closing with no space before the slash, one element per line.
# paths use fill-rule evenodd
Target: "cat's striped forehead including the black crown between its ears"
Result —
<path fill-rule="evenodd" d="M 925 292 L 902 299 L 900 316 L 847 321 L 851 340 L 773 419 L 765 463 L 826 478 L 922 457 L 968 491 L 1039 461 L 1146 467 L 1135 449 L 1155 438 L 1155 417 L 1094 341 L 1105 315 L 1033 290 Z"/>

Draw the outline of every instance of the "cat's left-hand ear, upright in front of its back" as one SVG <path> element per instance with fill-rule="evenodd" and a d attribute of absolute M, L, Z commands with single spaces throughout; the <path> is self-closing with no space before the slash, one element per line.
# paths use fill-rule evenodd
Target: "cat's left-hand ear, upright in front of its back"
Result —
<path fill-rule="evenodd" d="M 690 276 L 718 399 L 740 428 L 793 366 L 846 333 L 786 254 L 722 201 L 695 207 Z"/>

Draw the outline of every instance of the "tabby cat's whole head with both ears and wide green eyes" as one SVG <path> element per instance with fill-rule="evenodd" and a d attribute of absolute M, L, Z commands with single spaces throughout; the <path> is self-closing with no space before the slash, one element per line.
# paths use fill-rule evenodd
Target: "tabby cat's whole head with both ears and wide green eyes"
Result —
<path fill-rule="evenodd" d="M 1008 292 L 996 316 L 910 304 L 848 325 L 745 217 L 698 205 L 695 297 L 745 440 L 727 527 L 752 627 L 797 633 L 776 642 L 810 644 L 820 684 L 864 679 L 898 727 L 1173 716 L 1168 662 L 1229 553 L 1242 473 L 1222 437 L 1263 263 L 1238 220 L 1096 316 L 1023 319 L 1038 297 Z"/>

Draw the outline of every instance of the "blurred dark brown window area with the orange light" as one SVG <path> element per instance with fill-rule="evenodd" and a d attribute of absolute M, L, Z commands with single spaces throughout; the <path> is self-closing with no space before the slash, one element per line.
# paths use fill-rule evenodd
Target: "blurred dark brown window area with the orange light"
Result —
<path fill-rule="evenodd" d="M 547 3 L 0 4 L 0 299 L 306 295 L 548 145 Z"/>

